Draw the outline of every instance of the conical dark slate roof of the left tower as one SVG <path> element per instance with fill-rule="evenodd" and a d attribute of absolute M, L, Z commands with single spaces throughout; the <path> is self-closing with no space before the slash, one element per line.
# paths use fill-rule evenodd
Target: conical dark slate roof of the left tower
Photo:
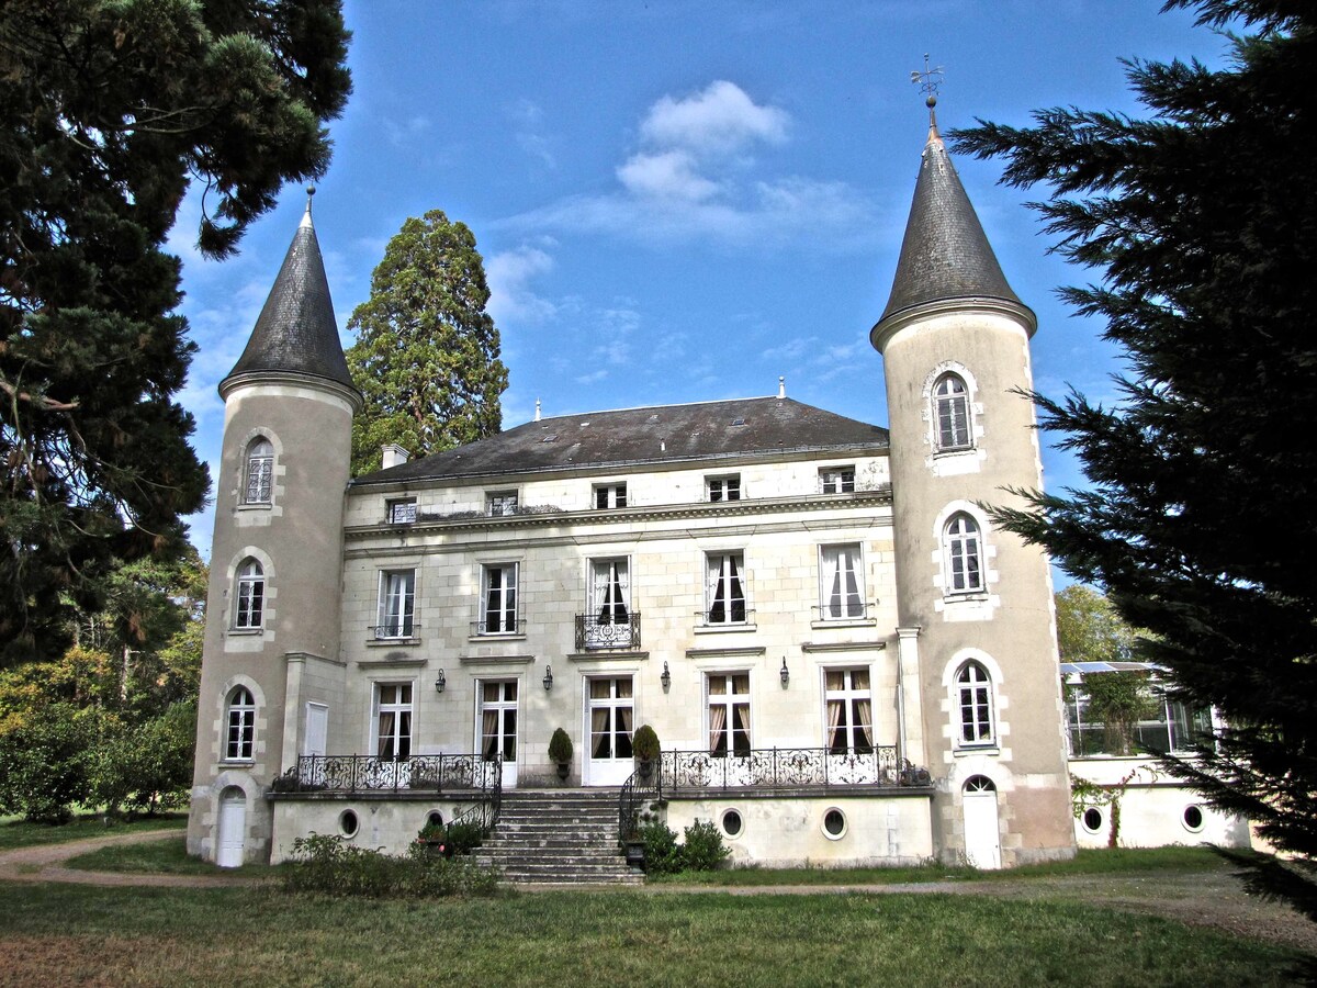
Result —
<path fill-rule="evenodd" d="M 255 320 L 246 349 L 220 382 L 221 394 L 236 378 L 261 374 L 321 378 L 356 391 L 338 344 L 329 282 L 311 223 L 309 196 L 315 195 L 315 190 L 307 192 L 307 212 L 292 237 L 261 317 Z"/>

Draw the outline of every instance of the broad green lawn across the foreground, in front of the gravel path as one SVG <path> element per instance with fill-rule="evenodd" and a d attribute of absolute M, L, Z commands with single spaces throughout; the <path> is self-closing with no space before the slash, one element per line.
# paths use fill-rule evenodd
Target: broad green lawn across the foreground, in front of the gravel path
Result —
<path fill-rule="evenodd" d="M 1291 984 L 1299 955 L 1158 918 L 944 894 L 360 901 L 0 888 L 9 984 Z"/>

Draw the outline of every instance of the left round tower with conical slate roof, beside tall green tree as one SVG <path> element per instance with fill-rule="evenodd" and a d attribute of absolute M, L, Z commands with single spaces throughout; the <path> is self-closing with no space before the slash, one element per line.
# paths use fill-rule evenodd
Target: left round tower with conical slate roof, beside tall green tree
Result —
<path fill-rule="evenodd" d="M 338 343 L 309 199 L 220 397 L 187 847 L 237 865 L 267 859 L 263 790 L 294 764 L 306 730 L 286 698 L 308 665 L 341 678 L 342 510 L 361 395 Z"/>

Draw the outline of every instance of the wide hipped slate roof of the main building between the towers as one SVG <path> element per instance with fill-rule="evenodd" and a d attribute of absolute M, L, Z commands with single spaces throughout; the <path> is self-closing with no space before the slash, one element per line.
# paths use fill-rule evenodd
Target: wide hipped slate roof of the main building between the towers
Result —
<path fill-rule="evenodd" d="M 365 474 L 353 485 L 853 448 L 886 449 L 888 431 L 790 398 L 740 398 L 528 422 L 478 443 Z"/>

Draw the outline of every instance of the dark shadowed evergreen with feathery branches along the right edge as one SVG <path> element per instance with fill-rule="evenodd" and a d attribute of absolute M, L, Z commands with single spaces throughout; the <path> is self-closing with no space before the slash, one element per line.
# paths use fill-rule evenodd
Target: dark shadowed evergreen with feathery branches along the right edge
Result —
<path fill-rule="evenodd" d="M 1317 9 L 1171 0 L 1234 26 L 1230 63 L 1130 62 L 1146 119 L 1047 109 L 963 150 L 1044 184 L 1064 288 L 1127 357 L 1121 398 L 1040 398 L 1092 483 L 998 512 L 1154 638 L 1183 698 L 1226 718 L 1173 761 L 1276 847 L 1317 855 Z M 1164 9 L 1166 9 L 1164 8 Z M 1308 872 L 1309 875 L 1312 872 Z M 1313 884 L 1296 887 L 1317 912 Z"/>

